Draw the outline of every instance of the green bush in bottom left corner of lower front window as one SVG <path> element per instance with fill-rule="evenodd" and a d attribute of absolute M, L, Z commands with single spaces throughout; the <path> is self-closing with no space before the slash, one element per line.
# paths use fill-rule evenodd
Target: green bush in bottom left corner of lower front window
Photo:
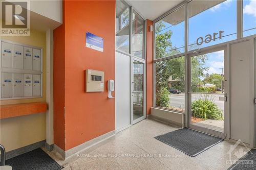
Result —
<path fill-rule="evenodd" d="M 169 107 L 169 91 L 166 87 L 156 91 L 156 106 L 158 107 Z"/>

